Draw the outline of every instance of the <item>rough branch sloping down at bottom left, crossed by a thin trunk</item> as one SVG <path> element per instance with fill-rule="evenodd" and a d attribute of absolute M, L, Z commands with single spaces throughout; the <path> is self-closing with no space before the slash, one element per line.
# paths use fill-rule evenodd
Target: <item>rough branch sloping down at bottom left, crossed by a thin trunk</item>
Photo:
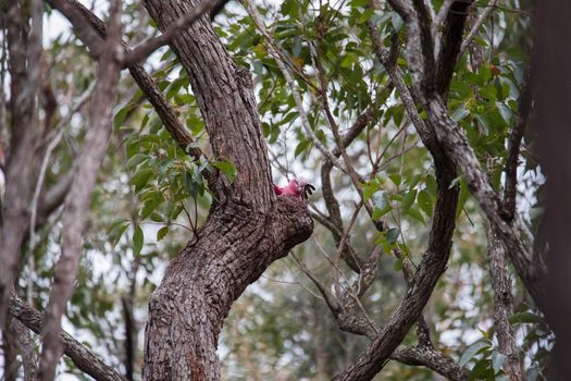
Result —
<path fill-rule="evenodd" d="M 41 312 L 20 298 L 12 296 L 10 299 L 10 315 L 12 318 L 20 320 L 29 330 L 36 333 L 41 332 L 41 327 L 44 325 Z M 98 381 L 127 381 L 66 332 L 61 331 L 60 334 L 63 342 L 63 352 L 72 359 L 77 369 Z"/>

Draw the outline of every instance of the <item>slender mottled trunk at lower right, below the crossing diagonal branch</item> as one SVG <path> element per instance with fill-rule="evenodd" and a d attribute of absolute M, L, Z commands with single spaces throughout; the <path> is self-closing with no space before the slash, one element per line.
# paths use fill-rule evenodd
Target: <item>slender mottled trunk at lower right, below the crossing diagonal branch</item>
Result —
<path fill-rule="evenodd" d="M 508 269 L 508 258 L 498 236 L 487 228 L 487 256 L 489 275 L 494 290 L 494 324 L 498 339 L 499 353 L 506 355 L 504 370 L 511 381 L 522 379 L 522 368 L 518 358 L 516 335 L 508 319 L 513 314 L 513 295 L 511 278 Z"/>

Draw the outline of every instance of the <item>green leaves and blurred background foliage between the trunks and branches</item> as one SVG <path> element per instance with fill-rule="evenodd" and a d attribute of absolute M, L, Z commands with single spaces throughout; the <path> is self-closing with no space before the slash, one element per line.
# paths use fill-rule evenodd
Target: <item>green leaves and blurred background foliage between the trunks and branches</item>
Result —
<path fill-rule="evenodd" d="M 333 190 L 339 200 L 345 226 L 357 217 L 350 234 L 353 250 L 362 256 L 382 245 L 385 257 L 378 275 L 363 296 L 367 314 L 378 324 L 392 315 L 402 295 L 402 257 L 418 265 L 429 242 L 436 180 L 432 158 L 420 143 L 406 113 L 400 95 L 385 69 L 376 61 L 367 22 L 372 21 L 389 46 L 398 38 L 404 46 L 406 30 L 397 13 L 383 3 L 373 11 L 369 1 L 315 2 L 285 0 L 275 7 L 259 3 L 259 11 L 277 45 L 282 58 L 295 73 L 296 88 L 303 99 L 311 130 L 327 149 L 335 137 L 324 110 L 319 75 L 326 79 L 325 96 L 342 134 L 369 107 L 372 122 L 348 148 L 348 156 L 365 181 L 356 186 L 351 179 L 333 171 Z M 442 1 L 433 1 L 437 11 Z M 136 2 L 126 9 L 127 36 L 156 33 L 153 23 L 141 14 Z M 142 22 L 140 22 L 142 21 Z M 479 65 L 464 53 L 457 65 L 448 94 L 452 119 L 467 133 L 479 160 L 496 189 L 501 187 L 506 162 L 506 140 L 518 112 L 518 99 L 529 53 L 529 13 L 519 1 L 506 1 L 484 24 L 475 44 L 485 59 Z M 323 156 L 301 126 L 291 89 L 280 72 L 270 44 L 237 4 L 216 19 L 216 32 L 237 64 L 253 73 L 263 134 L 271 151 L 275 183 L 303 174 L 318 183 Z M 95 67 L 75 36 L 69 32 L 50 36 L 45 51 L 47 82 L 70 110 L 71 100 L 84 93 Z M 405 73 L 404 49 L 397 64 Z M 176 115 L 209 152 L 206 132 L 189 79 L 171 50 L 161 50 L 149 60 L 159 84 Z M 70 75 L 72 73 L 73 75 Z M 321 74 L 320 74 L 321 73 Z M 408 84 L 409 76 L 405 77 Z M 114 113 L 114 131 L 102 164 L 97 192 L 92 196 L 85 234 L 87 256 L 82 262 L 75 294 L 67 310 L 67 328 L 89 344 L 110 365 L 124 367 L 124 315 L 122 299 L 135 306 L 138 335 L 145 321 L 150 293 L 162 278 L 169 259 L 196 233 L 214 201 L 202 175 L 220 171 L 232 183 L 236 169 L 229 161 L 206 157 L 194 160 L 176 146 L 157 112 L 125 74 L 121 105 Z M 63 111 L 62 111 L 63 112 Z M 62 119 L 64 115 L 58 115 Z M 426 115 L 421 112 L 421 116 Z M 47 184 L 54 184 L 70 171 L 77 147 L 88 126 L 86 108 L 77 110 L 64 128 L 65 138 L 50 159 Z M 525 146 L 533 143 L 526 137 Z M 536 228 L 537 189 L 543 181 L 531 150 L 520 165 L 522 176 L 519 205 L 524 222 Z M 471 379 L 506 379 L 504 355 L 497 351 L 493 331 L 492 290 L 487 272 L 485 221 L 469 196 L 462 175 L 457 209 L 455 246 L 447 272 L 438 282 L 425 319 L 433 341 L 460 366 L 471 369 Z M 359 196 L 362 193 L 362 199 Z M 371 216 L 359 202 L 372 201 Z M 310 209 L 325 210 L 322 193 L 310 200 Z M 378 232 L 373 221 L 387 229 Z M 33 267 L 23 261 L 25 276 L 20 293 L 29 293 L 42 307 L 48 297 L 51 268 L 59 254 L 59 217 L 38 233 Z M 332 279 L 353 280 L 340 263 L 331 232 L 318 225 L 314 236 L 295 249 L 308 268 L 331 290 Z M 327 256 L 328 255 L 328 256 Z M 531 380 L 544 379 L 553 347 L 553 335 L 543 318 L 530 306 L 529 297 L 514 276 L 517 312 L 511 323 L 517 330 L 519 356 Z M 228 380 L 328 379 L 343 370 L 365 346 L 367 339 L 339 331 L 314 285 L 296 263 L 284 259 L 274 263 L 235 305 L 222 335 L 223 374 Z M 409 333 L 405 344 L 414 345 Z M 142 345 L 139 340 L 137 358 Z M 67 364 L 64 371 L 76 373 Z M 378 376 L 383 380 L 432 379 L 422 367 L 392 361 Z"/>

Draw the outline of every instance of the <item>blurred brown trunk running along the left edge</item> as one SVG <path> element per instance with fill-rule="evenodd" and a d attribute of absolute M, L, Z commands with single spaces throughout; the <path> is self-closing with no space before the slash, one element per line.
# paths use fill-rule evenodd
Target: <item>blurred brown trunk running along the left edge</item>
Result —
<path fill-rule="evenodd" d="M 39 4 L 39 15 L 38 13 Z M 29 220 L 28 206 L 34 189 L 34 148 L 39 134 L 36 123 L 39 62 L 41 57 L 41 3 L 34 3 L 33 33 L 29 14 L 20 2 L 0 4 L 8 30 L 10 70 L 11 142 L 5 171 L 5 192 L 0 232 L 0 327 L 4 327 L 8 300 L 17 273 L 20 249 Z M 5 13 L 4 13 L 5 12 Z"/>

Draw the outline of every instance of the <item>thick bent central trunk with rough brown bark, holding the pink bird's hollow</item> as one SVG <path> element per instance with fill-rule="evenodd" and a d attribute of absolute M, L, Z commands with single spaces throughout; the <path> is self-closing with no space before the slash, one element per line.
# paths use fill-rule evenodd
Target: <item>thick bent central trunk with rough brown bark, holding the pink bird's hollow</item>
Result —
<path fill-rule="evenodd" d="M 196 2 L 144 4 L 164 29 Z M 171 46 L 189 75 L 215 160 L 231 160 L 237 175 L 232 184 L 218 176 L 206 224 L 151 297 L 142 378 L 218 380 L 218 337 L 232 303 L 307 239 L 313 222 L 302 200 L 274 195 L 250 73 L 232 61 L 208 17 Z"/>

